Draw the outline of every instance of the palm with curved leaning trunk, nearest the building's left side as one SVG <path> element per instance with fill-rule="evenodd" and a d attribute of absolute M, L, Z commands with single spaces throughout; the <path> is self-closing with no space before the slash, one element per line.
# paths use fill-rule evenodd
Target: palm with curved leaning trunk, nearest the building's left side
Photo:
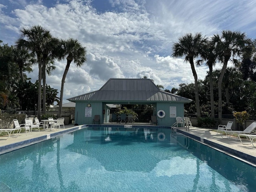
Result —
<path fill-rule="evenodd" d="M 64 91 L 64 82 L 68 73 L 71 62 L 73 61 L 77 67 L 81 67 L 84 62 L 87 61 L 86 58 L 86 47 L 82 46 L 78 40 L 69 38 L 67 40 L 60 40 L 60 56 L 59 59 L 66 57 L 67 64 L 62 76 L 61 81 L 61 90 L 60 90 L 60 102 L 59 102 L 59 111 L 58 116 L 62 116 L 62 100 L 63 100 L 63 91 Z"/>

